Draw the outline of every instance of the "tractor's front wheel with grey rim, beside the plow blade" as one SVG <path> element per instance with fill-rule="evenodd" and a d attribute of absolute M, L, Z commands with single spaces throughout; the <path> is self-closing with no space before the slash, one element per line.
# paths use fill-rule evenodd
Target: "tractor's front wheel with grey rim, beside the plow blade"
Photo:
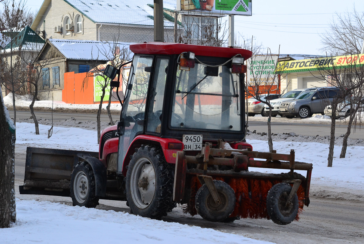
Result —
<path fill-rule="evenodd" d="M 74 206 L 95 208 L 99 205 L 96 197 L 96 183 L 92 167 L 87 162 L 80 162 L 71 175 L 70 197 Z"/>

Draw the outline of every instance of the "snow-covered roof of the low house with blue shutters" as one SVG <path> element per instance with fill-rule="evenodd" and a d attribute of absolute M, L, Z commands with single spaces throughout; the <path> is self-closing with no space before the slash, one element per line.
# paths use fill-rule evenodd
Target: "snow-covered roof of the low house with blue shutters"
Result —
<path fill-rule="evenodd" d="M 64 40 L 48 39 L 54 47 L 67 59 L 75 60 L 104 60 L 113 59 L 110 49 L 113 47 L 112 42 L 85 41 L 85 40 Z M 130 43 L 118 42 L 120 49 L 126 47 L 129 49 Z M 132 58 L 132 53 L 129 59 Z"/>

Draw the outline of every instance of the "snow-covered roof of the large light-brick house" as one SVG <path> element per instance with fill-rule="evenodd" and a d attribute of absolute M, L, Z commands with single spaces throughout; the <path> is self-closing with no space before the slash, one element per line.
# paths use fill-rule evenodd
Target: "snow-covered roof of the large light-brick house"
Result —
<path fill-rule="evenodd" d="M 95 23 L 116 23 L 132 25 L 154 25 L 153 0 L 64 0 Z M 44 0 L 32 28 L 37 28 L 51 0 Z M 174 3 L 174 4 L 173 4 Z M 163 1 L 168 8 L 175 9 L 175 0 Z M 62 11 L 59 9 L 59 11 Z M 173 21 L 165 19 L 164 25 L 173 27 Z"/>

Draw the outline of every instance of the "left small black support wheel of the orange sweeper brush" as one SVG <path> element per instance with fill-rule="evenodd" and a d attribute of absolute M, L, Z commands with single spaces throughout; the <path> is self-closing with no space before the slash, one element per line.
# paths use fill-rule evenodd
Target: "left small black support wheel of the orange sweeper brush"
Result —
<path fill-rule="evenodd" d="M 216 205 L 209 188 L 203 184 L 196 193 L 195 207 L 203 219 L 219 222 L 226 220 L 234 211 L 236 197 L 234 190 L 225 182 L 214 180 L 214 184 L 222 203 Z"/>

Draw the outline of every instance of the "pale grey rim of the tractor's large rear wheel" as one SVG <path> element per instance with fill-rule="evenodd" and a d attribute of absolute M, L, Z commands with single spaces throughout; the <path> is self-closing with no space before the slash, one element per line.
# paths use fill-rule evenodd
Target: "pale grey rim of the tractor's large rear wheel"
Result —
<path fill-rule="evenodd" d="M 138 208 L 146 208 L 155 193 L 155 172 L 147 158 L 140 158 L 134 165 L 130 177 L 130 190 Z"/>

